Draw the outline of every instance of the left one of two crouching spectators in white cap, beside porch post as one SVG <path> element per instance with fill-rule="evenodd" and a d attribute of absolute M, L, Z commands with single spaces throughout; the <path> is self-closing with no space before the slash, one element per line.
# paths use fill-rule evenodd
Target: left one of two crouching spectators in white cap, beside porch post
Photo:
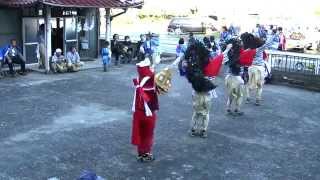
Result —
<path fill-rule="evenodd" d="M 67 63 L 62 55 L 61 49 L 56 49 L 56 52 L 52 56 L 51 64 L 50 64 L 51 70 L 54 73 L 64 73 L 67 72 Z"/>

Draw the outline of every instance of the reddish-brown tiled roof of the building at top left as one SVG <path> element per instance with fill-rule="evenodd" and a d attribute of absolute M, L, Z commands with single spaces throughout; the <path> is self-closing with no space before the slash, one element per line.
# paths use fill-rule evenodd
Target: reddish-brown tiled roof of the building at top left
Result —
<path fill-rule="evenodd" d="M 142 0 L 0 0 L 0 6 L 24 7 L 46 4 L 56 7 L 127 8 L 139 7 Z"/>

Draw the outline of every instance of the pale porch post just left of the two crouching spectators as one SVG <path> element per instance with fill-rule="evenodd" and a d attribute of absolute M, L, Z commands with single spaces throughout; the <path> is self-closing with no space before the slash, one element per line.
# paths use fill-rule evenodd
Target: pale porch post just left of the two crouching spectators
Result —
<path fill-rule="evenodd" d="M 51 7 L 45 6 L 45 43 L 46 43 L 46 55 L 45 55 L 45 68 L 46 73 L 50 71 L 49 60 L 52 56 L 52 47 L 51 47 Z"/>

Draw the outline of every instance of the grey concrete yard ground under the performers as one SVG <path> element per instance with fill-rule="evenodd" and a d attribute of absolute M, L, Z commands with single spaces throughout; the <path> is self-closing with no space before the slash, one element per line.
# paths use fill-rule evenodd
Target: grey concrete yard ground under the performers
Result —
<path fill-rule="evenodd" d="M 160 97 L 154 154 L 140 164 L 130 145 L 132 78 L 125 65 L 107 73 L 0 80 L 0 179 L 76 179 L 93 170 L 110 180 L 320 179 L 320 94 L 266 85 L 260 107 L 225 113 L 222 79 L 208 139 L 191 138 L 191 86 L 177 74 Z"/>

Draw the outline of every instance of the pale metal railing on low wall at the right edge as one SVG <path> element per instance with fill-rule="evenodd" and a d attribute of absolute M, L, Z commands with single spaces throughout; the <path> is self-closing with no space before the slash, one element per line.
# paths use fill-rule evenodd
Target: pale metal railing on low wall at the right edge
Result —
<path fill-rule="evenodd" d="M 268 51 L 272 71 L 314 76 L 320 79 L 320 55 Z"/>

